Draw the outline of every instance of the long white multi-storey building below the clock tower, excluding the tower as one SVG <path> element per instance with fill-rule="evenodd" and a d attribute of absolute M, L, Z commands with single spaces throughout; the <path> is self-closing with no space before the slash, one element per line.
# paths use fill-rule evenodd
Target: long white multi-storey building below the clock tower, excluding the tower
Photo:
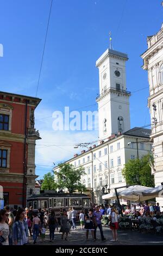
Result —
<path fill-rule="evenodd" d="M 76 168 L 84 167 L 86 174 L 82 176 L 82 183 L 88 191 L 93 188 L 92 202 L 102 203 L 102 188 L 105 186 L 110 192 L 114 192 L 116 187 L 126 186 L 122 176 L 124 164 L 151 152 L 150 134 L 149 129 L 134 127 L 122 135 L 112 135 L 105 142 L 101 141 L 66 161 Z M 58 167 L 54 170 L 59 172 Z"/>

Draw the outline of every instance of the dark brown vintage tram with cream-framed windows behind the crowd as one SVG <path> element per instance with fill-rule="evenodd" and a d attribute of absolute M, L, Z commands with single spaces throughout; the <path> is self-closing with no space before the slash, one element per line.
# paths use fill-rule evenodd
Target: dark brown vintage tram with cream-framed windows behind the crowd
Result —
<path fill-rule="evenodd" d="M 55 211 L 57 218 L 60 218 L 62 210 L 74 207 L 78 211 L 87 211 L 91 206 L 91 198 L 82 193 L 54 193 L 54 191 L 42 191 L 40 194 L 33 194 L 27 198 L 27 207 L 38 209 L 48 209 L 49 212 Z"/>

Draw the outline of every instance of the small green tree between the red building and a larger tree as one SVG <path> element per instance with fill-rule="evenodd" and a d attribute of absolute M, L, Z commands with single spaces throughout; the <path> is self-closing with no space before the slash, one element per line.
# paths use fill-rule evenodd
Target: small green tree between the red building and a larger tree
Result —
<path fill-rule="evenodd" d="M 48 172 L 43 176 L 43 182 L 41 185 L 41 190 L 56 190 L 57 184 L 54 181 L 54 174 Z"/>

